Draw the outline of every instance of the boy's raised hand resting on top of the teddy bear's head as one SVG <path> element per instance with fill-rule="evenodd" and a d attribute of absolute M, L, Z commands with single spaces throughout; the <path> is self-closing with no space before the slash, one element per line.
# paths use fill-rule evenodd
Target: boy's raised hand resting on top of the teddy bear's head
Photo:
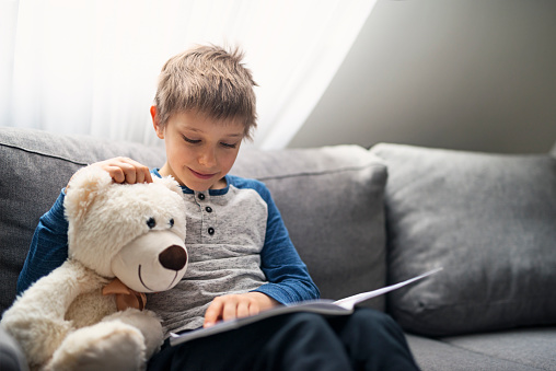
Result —
<path fill-rule="evenodd" d="M 104 170 L 116 183 L 152 183 L 149 167 L 128 158 L 114 158 L 95 162 L 90 166 Z"/>

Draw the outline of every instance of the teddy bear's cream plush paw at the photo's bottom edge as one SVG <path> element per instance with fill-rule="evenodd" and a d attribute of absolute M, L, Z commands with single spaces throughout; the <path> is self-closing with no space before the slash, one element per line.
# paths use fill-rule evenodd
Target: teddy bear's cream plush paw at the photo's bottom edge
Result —
<path fill-rule="evenodd" d="M 99 323 L 70 334 L 46 370 L 144 370 L 141 332 L 124 323 Z"/>

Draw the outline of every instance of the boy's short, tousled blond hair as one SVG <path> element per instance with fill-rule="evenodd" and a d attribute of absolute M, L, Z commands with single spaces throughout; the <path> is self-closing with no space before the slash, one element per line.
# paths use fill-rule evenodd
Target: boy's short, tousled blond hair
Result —
<path fill-rule="evenodd" d="M 240 119 L 244 137 L 256 127 L 256 98 L 251 71 L 239 48 L 196 46 L 166 61 L 154 97 L 159 125 L 174 113 L 198 111 L 213 119 Z"/>

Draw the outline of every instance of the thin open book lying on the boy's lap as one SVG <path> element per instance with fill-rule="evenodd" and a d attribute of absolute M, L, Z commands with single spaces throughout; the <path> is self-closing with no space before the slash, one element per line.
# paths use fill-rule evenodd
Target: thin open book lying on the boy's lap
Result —
<path fill-rule="evenodd" d="M 404 287 L 406 285 L 409 285 L 412 282 L 415 282 L 419 279 L 422 279 L 425 277 L 428 277 L 430 275 L 433 275 L 438 271 L 442 270 L 442 268 L 437 268 L 430 271 L 427 271 L 426 274 L 422 274 L 420 276 L 410 278 L 408 280 L 405 280 L 399 283 L 395 283 L 392 286 L 386 286 L 382 289 L 362 292 L 355 294 L 352 297 L 348 297 L 340 300 L 309 300 L 303 301 L 300 303 L 289 304 L 289 305 L 282 305 L 282 306 L 276 306 L 268 311 L 260 312 L 256 315 L 252 315 L 248 317 L 242 317 L 242 318 L 235 318 L 231 321 L 224 321 L 220 322 L 211 327 L 207 328 L 199 328 L 194 329 L 184 334 L 170 334 L 170 345 L 175 346 L 185 341 L 189 341 L 193 339 L 197 339 L 200 337 L 206 337 L 219 333 L 223 333 L 230 329 L 239 328 L 241 326 L 245 326 L 250 323 L 254 323 L 264 318 L 273 317 L 276 315 L 287 314 L 287 313 L 293 313 L 293 312 L 311 312 L 311 313 L 317 313 L 322 315 L 347 315 L 354 313 L 354 308 L 356 304 L 359 304 L 366 300 L 369 300 L 374 297 L 382 295 L 386 292 L 399 289 L 401 287 Z"/>

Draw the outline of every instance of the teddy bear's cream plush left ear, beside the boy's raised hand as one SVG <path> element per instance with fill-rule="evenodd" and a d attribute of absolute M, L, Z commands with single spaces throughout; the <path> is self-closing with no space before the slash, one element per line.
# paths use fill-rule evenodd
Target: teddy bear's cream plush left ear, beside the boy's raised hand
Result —
<path fill-rule="evenodd" d="M 96 166 L 79 170 L 66 188 L 63 207 L 68 220 L 79 220 L 95 198 L 112 185 L 111 175 Z"/>

